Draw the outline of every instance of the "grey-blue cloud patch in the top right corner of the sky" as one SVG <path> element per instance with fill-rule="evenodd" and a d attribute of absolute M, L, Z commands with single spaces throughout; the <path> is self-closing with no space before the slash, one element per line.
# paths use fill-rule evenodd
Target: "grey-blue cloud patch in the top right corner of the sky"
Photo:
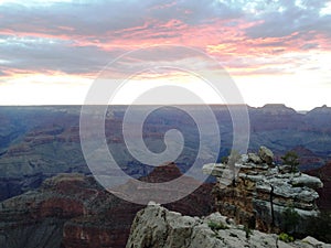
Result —
<path fill-rule="evenodd" d="M 270 4 L 261 8 L 259 14 L 249 17 L 263 20 L 263 23 L 246 30 L 249 37 L 284 37 L 296 32 L 305 39 L 313 39 L 314 33 L 331 37 L 331 15 L 320 15 L 325 0 L 268 2 Z"/>

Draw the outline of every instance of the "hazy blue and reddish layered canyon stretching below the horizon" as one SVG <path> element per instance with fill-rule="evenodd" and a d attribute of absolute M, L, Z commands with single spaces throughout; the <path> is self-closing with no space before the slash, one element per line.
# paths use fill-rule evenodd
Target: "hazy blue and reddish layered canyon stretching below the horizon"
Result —
<path fill-rule="evenodd" d="M 250 121 L 248 157 L 255 154 L 253 158 L 258 158 L 260 147 L 267 147 L 273 151 L 271 165 L 268 165 L 270 161 L 266 163 L 263 159 L 253 159 L 249 162 L 248 157 L 243 154 L 239 162 L 242 165 L 237 165 L 241 168 L 237 185 L 228 183 L 226 187 L 220 187 L 226 169 L 217 164 L 222 164 L 231 152 L 233 127 L 226 106 L 211 106 L 221 133 L 221 150 L 214 161 L 216 166 L 206 169 L 209 155 L 199 158 L 201 172 L 207 171 L 210 174 L 207 180 L 192 194 L 166 204 L 164 207 L 182 215 L 202 218 L 218 212 L 233 218 L 231 222 L 237 223 L 236 225 L 247 225 L 249 228 L 276 234 L 284 229 L 281 214 L 291 203 L 298 213 L 330 213 L 331 108 L 322 106 L 311 111 L 297 112 L 284 105 L 244 107 L 248 109 Z M 199 106 L 190 108 L 200 111 Z M 162 139 L 169 129 L 182 131 L 185 138 L 186 149 L 177 161 L 153 168 L 140 163 L 127 151 L 121 133 L 126 109 L 127 106 L 114 106 L 105 114 L 107 144 L 109 151 L 116 154 L 122 171 L 134 179 L 151 183 L 182 176 L 196 158 L 199 130 L 192 119 L 170 107 L 161 107 L 147 118 L 143 139 L 147 147 L 154 152 L 164 149 Z M 95 181 L 89 171 L 81 148 L 79 111 L 79 106 L 0 108 L 0 244 L 4 247 L 125 247 L 128 240 L 128 247 L 136 247 L 138 242 L 135 245 L 132 238 L 140 240 L 147 235 L 139 233 L 134 226 L 131 228 L 136 214 L 145 206 L 113 195 Z M 136 111 L 143 111 L 143 106 L 137 106 Z M 209 125 L 207 120 L 205 125 Z M 290 150 L 298 154 L 299 173 L 306 177 L 281 172 L 281 157 Z M 265 180 L 263 176 L 269 177 Z M 302 183 L 295 186 L 293 176 L 299 176 L 296 182 Z M 190 177 L 185 182 L 197 184 L 195 179 Z M 275 182 L 277 185 L 274 196 L 276 220 L 273 225 L 267 214 L 270 211 L 269 190 L 260 186 L 261 182 L 266 185 Z M 286 185 L 291 183 L 293 188 L 286 190 Z M 313 190 L 307 190 L 311 184 Z M 135 183 L 128 182 L 126 186 L 135 187 Z M 141 190 L 137 188 L 139 191 Z M 175 188 L 170 191 L 170 194 L 175 193 Z M 301 215 L 303 219 L 305 216 L 307 217 Z M 317 219 L 318 216 L 312 214 L 309 222 L 318 222 Z M 309 227 L 306 230 L 305 222 L 300 224 L 301 233 L 296 231 L 295 235 L 300 238 L 303 238 L 302 235 L 314 235 L 321 241 L 330 242 L 329 234 L 321 231 L 321 235 L 316 235 L 317 231 Z M 235 227 L 229 225 L 229 228 Z M 266 239 L 270 237 L 266 236 Z M 227 244 L 226 247 L 231 247 L 228 241 L 224 242 Z M 255 246 L 260 247 L 258 244 Z"/>

